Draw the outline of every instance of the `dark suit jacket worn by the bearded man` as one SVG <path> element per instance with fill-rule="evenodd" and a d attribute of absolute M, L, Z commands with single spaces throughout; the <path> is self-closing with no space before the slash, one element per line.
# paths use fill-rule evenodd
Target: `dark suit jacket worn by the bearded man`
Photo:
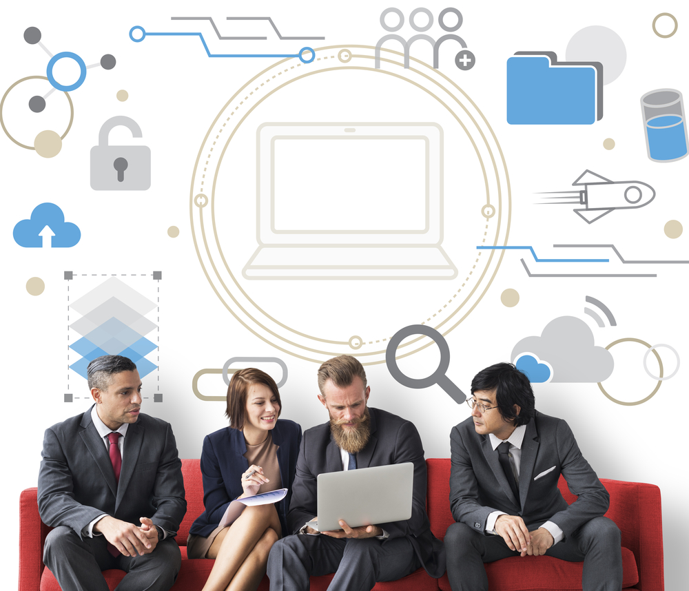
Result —
<path fill-rule="evenodd" d="M 445 550 L 442 542 L 431 533 L 426 515 L 426 461 L 421 437 L 413 423 L 402 417 L 378 408 L 369 408 L 369 412 L 371 438 L 356 455 L 357 467 L 414 464 L 411 519 L 378 523 L 378 526 L 391 538 L 409 537 L 426 572 L 438 579 L 445 572 Z M 342 456 L 331 435 L 330 423 L 305 431 L 287 514 L 287 526 L 291 532 L 298 532 L 307 521 L 316 517 L 318 475 L 338 471 L 342 471 Z"/>

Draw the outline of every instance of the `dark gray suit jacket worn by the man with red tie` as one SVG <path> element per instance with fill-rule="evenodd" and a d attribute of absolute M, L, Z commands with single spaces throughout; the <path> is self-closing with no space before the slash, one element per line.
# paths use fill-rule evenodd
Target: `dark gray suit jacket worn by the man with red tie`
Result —
<path fill-rule="evenodd" d="M 46 429 L 41 455 L 39 513 L 48 526 L 69 526 L 81 537 L 107 513 L 136 526 L 149 517 L 176 533 L 187 511 L 182 462 L 161 419 L 141 414 L 127 427 L 119 485 L 90 409 Z"/>

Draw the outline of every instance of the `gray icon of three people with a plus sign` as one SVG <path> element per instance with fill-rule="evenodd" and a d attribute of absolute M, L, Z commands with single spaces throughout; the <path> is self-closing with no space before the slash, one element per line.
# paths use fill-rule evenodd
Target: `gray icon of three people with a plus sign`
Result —
<path fill-rule="evenodd" d="M 400 21 L 394 25 L 388 25 L 385 22 L 385 17 L 387 17 L 388 14 L 391 12 L 397 14 L 399 17 Z M 428 22 L 425 25 L 418 25 L 415 22 L 416 16 L 422 12 L 423 14 L 428 17 Z M 457 23 L 454 25 L 448 25 L 445 23 L 445 16 L 446 14 L 451 13 L 454 14 L 457 17 Z M 424 40 L 428 41 L 431 43 L 431 46 L 433 47 L 433 68 L 437 69 L 438 68 L 438 56 L 440 54 L 440 45 L 444 43 L 444 41 L 449 41 L 452 39 L 453 41 L 457 41 L 462 46 L 462 49 L 460 52 L 455 55 L 455 65 L 457 65 L 457 68 L 460 70 L 471 70 L 473 68 L 474 64 L 476 63 L 476 59 L 474 54 L 466 49 L 466 43 L 464 43 L 464 39 L 462 37 L 459 37 L 459 35 L 455 35 L 454 32 L 459 29 L 462 26 L 462 13 L 457 10 L 456 8 L 445 8 L 440 12 L 438 15 L 438 24 L 440 25 L 440 28 L 446 32 L 442 37 L 439 39 L 433 39 L 433 37 L 424 34 L 427 30 L 429 30 L 433 26 L 433 13 L 428 9 L 428 8 L 415 8 L 414 10 L 411 11 L 411 14 L 409 14 L 409 24 L 411 25 L 411 28 L 418 32 L 418 34 L 415 34 L 413 37 L 410 37 L 409 39 L 404 39 L 404 37 L 401 37 L 398 34 L 395 34 L 398 30 L 404 26 L 404 14 L 402 14 L 402 11 L 399 8 L 386 8 L 383 10 L 383 12 L 380 13 L 380 25 L 382 28 L 384 28 L 386 31 L 388 31 L 390 34 L 383 35 L 380 39 L 378 39 L 378 43 L 376 43 L 376 68 L 380 68 L 380 48 L 382 47 L 383 43 L 386 41 L 390 40 L 395 40 L 399 41 L 402 43 L 402 48 L 404 50 L 404 68 L 409 68 L 409 51 L 411 50 L 411 45 L 415 41 L 419 40 Z"/>

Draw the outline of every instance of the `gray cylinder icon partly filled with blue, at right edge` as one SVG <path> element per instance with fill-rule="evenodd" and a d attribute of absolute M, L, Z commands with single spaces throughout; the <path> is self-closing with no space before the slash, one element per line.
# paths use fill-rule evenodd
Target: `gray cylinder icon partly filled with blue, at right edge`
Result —
<path fill-rule="evenodd" d="M 674 162 L 687 155 L 687 127 L 679 90 L 661 88 L 641 96 L 646 152 L 655 162 Z"/>

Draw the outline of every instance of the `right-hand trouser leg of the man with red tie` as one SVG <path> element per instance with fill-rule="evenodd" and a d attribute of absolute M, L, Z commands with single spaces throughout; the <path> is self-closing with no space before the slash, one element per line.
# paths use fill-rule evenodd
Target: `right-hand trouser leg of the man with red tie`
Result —
<path fill-rule="evenodd" d="M 116 591 L 167 591 L 182 566 L 182 555 L 174 538 L 161 540 L 155 550 L 142 556 L 117 559 L 118 568 L 127 574 Z"/>

